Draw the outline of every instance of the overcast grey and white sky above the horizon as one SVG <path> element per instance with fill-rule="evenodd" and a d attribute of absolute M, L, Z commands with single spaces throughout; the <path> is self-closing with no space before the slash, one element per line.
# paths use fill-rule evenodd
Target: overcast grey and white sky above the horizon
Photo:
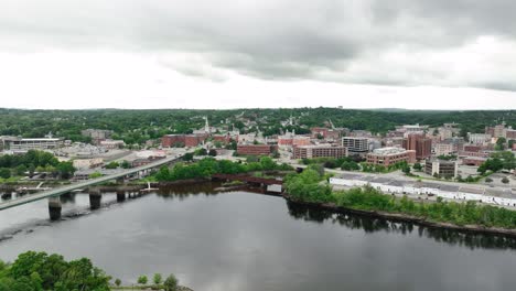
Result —
<path fill-rule="evenodd" d="M 513 0 L 1 0 L 0 107 L 516 109 Z"/>

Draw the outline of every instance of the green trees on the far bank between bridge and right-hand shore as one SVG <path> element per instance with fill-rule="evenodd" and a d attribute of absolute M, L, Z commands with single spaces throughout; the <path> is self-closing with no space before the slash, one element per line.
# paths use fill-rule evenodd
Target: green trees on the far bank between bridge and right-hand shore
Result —
<path fill-rule="evenodd" d="M 158 181 L 178 181 L 187 179 L 209 177 L 213 174 L 238 174 L 255 171 L 290 171 L 292 168 L 287 164 L 278 165 L 269 157 L 264 157 L 259 162 L 238 163 L 227 160 L 217 161 L 205 158 L 198 162 L 184 164 L 178 163 L 172 169 L 162 166 L 155 174 Z"/>

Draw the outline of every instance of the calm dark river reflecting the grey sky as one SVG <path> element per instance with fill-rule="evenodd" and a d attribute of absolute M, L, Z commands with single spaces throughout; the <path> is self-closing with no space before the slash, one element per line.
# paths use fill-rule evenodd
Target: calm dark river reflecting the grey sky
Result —
<path fill-rule="evenodd" d="M 89 257 L 115 278 L 173 272 L 196 291 L 514 290 L 516 244 L 331 214 L 205 185 L 162 191 L 88 213 L 67 198 L 65 220 L 46 202 L 0 212 L 0 258 L 25 250 Z M 75 213 L 85 215 L 75 217 Z M 22 229 L 21 231 L 19 231 Z M 33 231 L 32 231 L 33 230 Z"/>

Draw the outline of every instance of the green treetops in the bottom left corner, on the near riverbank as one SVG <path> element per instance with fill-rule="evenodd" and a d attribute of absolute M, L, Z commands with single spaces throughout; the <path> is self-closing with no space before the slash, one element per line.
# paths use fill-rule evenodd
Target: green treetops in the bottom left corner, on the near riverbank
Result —
<path fill-rule="evenodd" d="M 66 261 L 60 255 L 28 251 L 12 265 L 0 261 L 0 291 L 104 291 L 109 280 L 86 258 Z"/>

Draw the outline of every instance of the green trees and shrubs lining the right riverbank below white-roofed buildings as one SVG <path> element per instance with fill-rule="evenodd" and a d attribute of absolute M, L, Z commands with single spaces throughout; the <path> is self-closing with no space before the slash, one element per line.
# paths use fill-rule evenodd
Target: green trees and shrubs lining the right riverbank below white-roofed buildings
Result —
<path fill-rule="evenodd" d="M 455 203 L 438 198 L 437 203 L 418 203 L 407 196 L 396 198 L 386 195 L 370 186 L 332 192 L 323 176 L 312 169 L 301 174 L 287 176 L 284 186 L 289 195 L 298 201 L 333 203 L 336 206 L 362 211 L 401 213 L 456 225 L 516 228 L 516 212 L 490 205 L 477 205 L 472 201 Z"/>

